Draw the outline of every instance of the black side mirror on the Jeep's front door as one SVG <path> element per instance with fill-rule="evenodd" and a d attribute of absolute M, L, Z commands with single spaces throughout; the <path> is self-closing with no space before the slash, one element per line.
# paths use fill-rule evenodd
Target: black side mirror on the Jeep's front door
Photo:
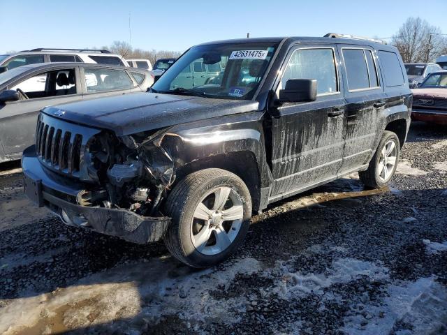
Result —
<path fill-rule="evenodd" d="M 316 79 L 289 79 L 279 90 L 279 103 L 316 101 Z"/>

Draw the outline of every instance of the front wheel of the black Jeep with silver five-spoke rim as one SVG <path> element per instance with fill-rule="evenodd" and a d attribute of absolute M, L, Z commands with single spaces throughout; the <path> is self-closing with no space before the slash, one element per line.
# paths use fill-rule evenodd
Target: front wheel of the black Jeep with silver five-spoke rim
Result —
<path fill-rule="evenodd" d="M 168 196 L 165 214 L 173 219 L 164 237 L 170 253 L 191 267 L 211 267 L 242 244 L 251 197 L 237 175 L 205 169 L 179 181 Z"/>

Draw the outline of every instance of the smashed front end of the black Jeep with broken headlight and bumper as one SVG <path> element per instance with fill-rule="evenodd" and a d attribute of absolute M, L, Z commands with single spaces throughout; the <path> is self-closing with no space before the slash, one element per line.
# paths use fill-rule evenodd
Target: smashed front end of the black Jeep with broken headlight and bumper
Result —
<path fill-rule="evenodd" d="M 175 179 L 163 132 L 117 137 L 111 131 L 97 131 L 85 141 L 73 134 L 74 144 L 60 140 L 59 147 L 66 145 L 68 154 L 61 150 L 65 156 L 56 157 L 54 145 L 64 136 L 50 138 L 50 131 L 59 130 L 47 128 L 46 142 L 37 140 L 22 158 L 25 193 L 31 200 L 52 209 L 68 225 L 139 244 L 163 237 L 170 218 L 160 207 Z M 73 154 L 76 148 L 80 153 Z"/>

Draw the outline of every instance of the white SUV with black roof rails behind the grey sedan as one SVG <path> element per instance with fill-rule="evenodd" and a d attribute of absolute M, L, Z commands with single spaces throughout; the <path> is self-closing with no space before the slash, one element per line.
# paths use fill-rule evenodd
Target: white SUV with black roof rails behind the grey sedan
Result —
<path fill-rule="evenodd" d="M 38 48 L 0 54 L 0 73 L 19 66 L 54 62 L 97 63 L 117 66 L 129 66 L 119 54 L 112 54 L 108 50 L 88 49 L 47 49 Z"/>

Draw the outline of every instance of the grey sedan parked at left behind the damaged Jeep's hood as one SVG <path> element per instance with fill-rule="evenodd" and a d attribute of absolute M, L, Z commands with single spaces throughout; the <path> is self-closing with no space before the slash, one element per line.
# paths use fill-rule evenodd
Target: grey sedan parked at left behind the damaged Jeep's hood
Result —
<path fill-rule="evenodd" d="M 43 63 L 0 73 L 0 162 L 34 142 L 41 108 L 101 96 L 146 91 L 147 70 L 82 63 Z"/>

